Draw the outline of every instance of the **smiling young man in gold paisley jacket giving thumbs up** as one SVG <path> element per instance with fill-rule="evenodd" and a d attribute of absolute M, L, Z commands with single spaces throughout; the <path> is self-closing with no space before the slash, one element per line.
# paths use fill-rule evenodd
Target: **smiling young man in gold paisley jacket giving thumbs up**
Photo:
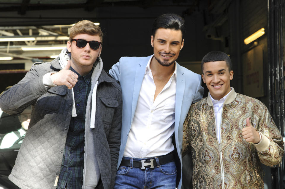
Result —
<path fill-rule="evenodd" d="M 264 188 L 261 163 L 279 164 L 284 154 L 267 107 L 230 87 L 227 54 L 206 54 L 202 72 L 209 94 L 191 106 L 183 131 L 183 154 L 192 150 L 193 187 Z"/>

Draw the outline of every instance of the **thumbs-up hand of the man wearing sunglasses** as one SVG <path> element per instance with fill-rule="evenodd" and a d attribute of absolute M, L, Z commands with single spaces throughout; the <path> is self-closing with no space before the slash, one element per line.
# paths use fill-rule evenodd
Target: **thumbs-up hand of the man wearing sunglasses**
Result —
<path fill-rule="evenodd" d="M 64 69 L 50 75 L 53 84 L 55 85 L 66 85 L 67 88 L 72 89 L 77 82 L 78 75 L 71 70 L 69 70 L 71 66 L 70 60 L 67 61 Z"/>

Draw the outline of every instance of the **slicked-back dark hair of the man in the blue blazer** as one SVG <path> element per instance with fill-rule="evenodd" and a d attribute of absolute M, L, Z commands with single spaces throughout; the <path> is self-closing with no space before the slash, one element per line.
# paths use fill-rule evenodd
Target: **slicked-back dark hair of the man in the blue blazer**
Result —
<path fill-rule="evenodd" d="M 185 34 L 185 21 L 184 19 L 179 16 L 178 14 L 162 14 L 158 16 L 152 25 L 152 35 L 154 37 L 156 30 L 159 28 L 164 29 L 174 29 L 174 30 L 181 30 L 182 32 L 182 41 L 184 39 Z"/>

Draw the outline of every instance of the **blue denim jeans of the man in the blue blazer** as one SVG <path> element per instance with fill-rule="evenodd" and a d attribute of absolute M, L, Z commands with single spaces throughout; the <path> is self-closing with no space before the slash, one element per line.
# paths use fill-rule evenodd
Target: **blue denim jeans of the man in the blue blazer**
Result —
<path fill-rule="evenodd" d="M 127 157 L 123 159 L 131 161 L 131 165 L 133 160 L 148 160 Z M 117 170 L 114 189 L 175 189 L 176 176 L 174 161 L 145 169 L 120 166 Z"/>

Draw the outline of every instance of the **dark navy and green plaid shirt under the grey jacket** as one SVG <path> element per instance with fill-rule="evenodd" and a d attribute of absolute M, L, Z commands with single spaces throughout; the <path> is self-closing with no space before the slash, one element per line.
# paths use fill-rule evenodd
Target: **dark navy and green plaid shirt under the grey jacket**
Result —
<path fill-rule="evenodd" d="M 70 70 L 79 75 L 72 67 Z M 83 185 L 85 113 L 92 72 L 93 69 L 79 76 L 73 87 L 77 117 L 70 120 L 57 189 L 64 189 L 66 184 L 68 188 L 81 189 Z"/>

